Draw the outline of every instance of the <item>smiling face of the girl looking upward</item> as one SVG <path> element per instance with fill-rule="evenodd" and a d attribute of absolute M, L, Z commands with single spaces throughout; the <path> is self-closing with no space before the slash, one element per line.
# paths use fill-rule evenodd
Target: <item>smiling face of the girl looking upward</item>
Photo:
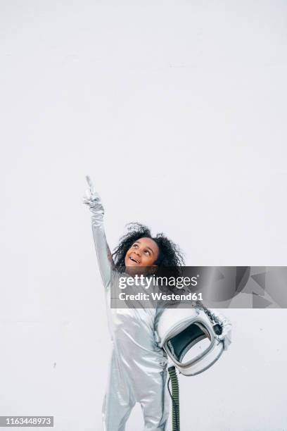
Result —
<path fill-rule="evenodd" d="M 160 250 L 151 238 L 139 238 L 125 256 L 125 266 L 156 266 L 154 265 Z"/>

